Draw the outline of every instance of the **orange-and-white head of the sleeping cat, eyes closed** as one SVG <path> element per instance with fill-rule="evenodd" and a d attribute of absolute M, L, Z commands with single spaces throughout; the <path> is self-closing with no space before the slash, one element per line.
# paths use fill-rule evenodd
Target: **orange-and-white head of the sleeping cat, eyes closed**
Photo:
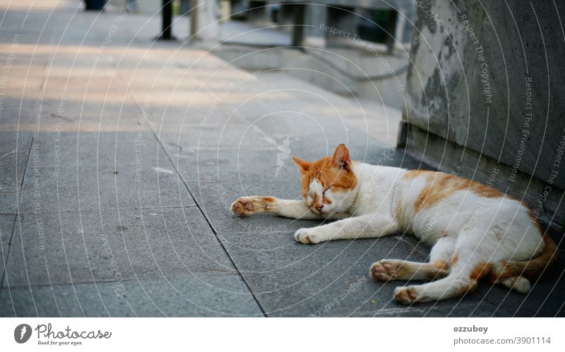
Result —
<path fill-rule="evenodd" d="M 355 200 L 357 178 L 349 150 L 340 144 L 333 157 L 307 162 L 294 157 L 302 172 L 302 196 L 316 214 L 347 212 Z"/>

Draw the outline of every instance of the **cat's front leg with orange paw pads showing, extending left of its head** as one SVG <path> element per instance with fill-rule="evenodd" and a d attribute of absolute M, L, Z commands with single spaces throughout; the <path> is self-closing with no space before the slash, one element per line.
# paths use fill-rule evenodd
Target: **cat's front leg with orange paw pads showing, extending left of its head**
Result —
<path fill-rule="evenodd" d="M 322 219 L 319 214 L 312 212 L 306 202 L 302 200 L 278 199 L 258 195 L 239 198 L 232 204 L 232 212 L 240 217 L 268 212 L 292 219 Z"/>

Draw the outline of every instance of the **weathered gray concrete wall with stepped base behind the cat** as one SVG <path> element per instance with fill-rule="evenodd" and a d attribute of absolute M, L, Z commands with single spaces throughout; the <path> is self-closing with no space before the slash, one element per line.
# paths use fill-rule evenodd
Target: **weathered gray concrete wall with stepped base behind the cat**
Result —
<path fill-rule="evenodd" d="M 498 168 L 497 188 L 563 224 L 565 3 L 424 0 L 416 14 L 400 145 L 482 181 Z"/>

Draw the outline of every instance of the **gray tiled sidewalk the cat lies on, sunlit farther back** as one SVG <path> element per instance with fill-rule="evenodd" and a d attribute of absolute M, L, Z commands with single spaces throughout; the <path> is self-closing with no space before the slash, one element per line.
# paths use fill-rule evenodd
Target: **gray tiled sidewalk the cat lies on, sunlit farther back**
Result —
<path fill-rule="evenodd" d="M 426 260 L 414 238 L 301 245 L 294 231 L 316 221 L 230 214 L 241 195 L 299 198 L 290 156 L 340 142 L 355 159 L 425 167 L 386 145 L 398 111 L 153 42 L 159 18 L 8 2 L 0 316 L 563 315 L 559 275 L 527 297 L 484 284 L 405 307 L 392 300 L 404 283 L 372 283 L 368 269 Z"/>

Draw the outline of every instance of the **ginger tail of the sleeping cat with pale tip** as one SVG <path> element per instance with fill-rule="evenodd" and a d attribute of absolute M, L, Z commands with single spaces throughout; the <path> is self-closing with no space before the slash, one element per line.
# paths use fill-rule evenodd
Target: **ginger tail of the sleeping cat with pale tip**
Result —
<path fill-rule="evenodd" d="M 544 248 L 537 257 L 522 262 L 509 262 L 501 260 L 494 265 L 491 272 L 491 281 L 504 284 L 510 289 L 526 293 L 530 291 L 530 282 L 526 278 L 536 279 L 550 267 L 558 256 L 557 245 L 547 232 L 543 233 Z"/>

